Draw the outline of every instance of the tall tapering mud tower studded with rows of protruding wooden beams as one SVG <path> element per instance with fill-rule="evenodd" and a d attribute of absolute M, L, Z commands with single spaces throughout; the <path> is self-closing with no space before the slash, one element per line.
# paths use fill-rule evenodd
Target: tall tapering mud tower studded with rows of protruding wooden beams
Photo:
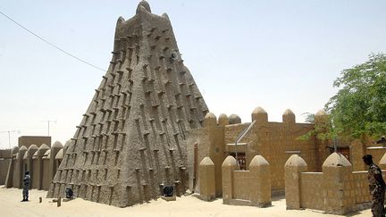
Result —
<path fill-rule="evenodd" d="M 167 14 L 147 2 L 116 24 L 113 60 L 65 147 L 47 197 L 76 196 L 127 206 L 188 186 L 185 131 L 202 126 L 206 103 L 179 49 Z"/>

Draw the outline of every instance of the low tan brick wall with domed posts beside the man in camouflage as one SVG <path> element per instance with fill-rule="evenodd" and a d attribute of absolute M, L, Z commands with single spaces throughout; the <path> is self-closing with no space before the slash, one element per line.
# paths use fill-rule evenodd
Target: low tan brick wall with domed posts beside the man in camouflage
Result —
<path fill-rule="evenodd" d="M 305 172 L 306 165 L 300 169 L 293 160 L 300 157 L 290 162 L 291 158 L 285 166 L 288 209 L 346 214 L 370 207 L 367 171 L 353 172 L 351 163 L 342 154 L 331 154 L 323 163 L 323 172 Z M 382 171 L 383 179 L 385 175 L 386 171 Z"/>

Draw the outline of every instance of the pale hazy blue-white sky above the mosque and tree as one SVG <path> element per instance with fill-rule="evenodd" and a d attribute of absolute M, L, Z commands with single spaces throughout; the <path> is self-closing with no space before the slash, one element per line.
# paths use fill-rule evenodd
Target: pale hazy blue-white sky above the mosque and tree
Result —
<path fill-rule="evenodd" d="M 0 12 L 55 46 L 107 69 L 115 23 L 139 1 L 1 0 Z M 210 112 L 261 106 L 269 121 L 323 109 L 340 71 L 386 53 L 386 1 L 148 0 L 167 13 L 185 65 Z M 0 148 L 21 136 L 65 143 L 105 71 L 57 51 L 0 14 Z M 10 139 L 7 131 L 12 131 Z M 9 144 L 10 143 L 10 144 Z"/>

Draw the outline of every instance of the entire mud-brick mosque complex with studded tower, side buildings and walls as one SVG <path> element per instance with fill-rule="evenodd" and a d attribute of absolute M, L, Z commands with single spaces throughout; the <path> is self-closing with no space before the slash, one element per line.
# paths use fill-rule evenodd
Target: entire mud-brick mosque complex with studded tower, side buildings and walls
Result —
<path fill-rule="evenodd" d="M 165 186 L 224 204 L 265 207 L 285 194 L 287 209 L 369 207 L 361 157 L 373 154 L 385 169 L 385 146 L 298 139 L 328 121 L 323 111 L 315 123 L 296 122 L 290 110 L 272 122 L 261 107 L 251 108 L 250 122 L 217 118 L 180 57 L 168 15 L 151 13 L 146 1 L 134 17 L 118 19 L 112 54 L 73 138 L 1 150 L 0 184 L 21 188 L 30 171 L 30 188 L 48 190 L 48 198 L 70 187 L 119 207 L 159 198 Z"/>

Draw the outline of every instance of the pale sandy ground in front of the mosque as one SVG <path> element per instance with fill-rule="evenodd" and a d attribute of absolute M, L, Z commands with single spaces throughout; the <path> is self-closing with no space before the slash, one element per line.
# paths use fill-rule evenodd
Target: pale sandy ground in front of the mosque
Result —
<path fill-rule="evenodd" d="M 38 197 L 43 197 L 43 203 L 38 203 Z M 30 201 L 21 203 L 21 189 L 4 188 L 0 186 L 0 216 L 178 216 L 178 217 L 249 217 L 249 216 L 339 216 L 323 214 L 313 210 L 286 210 L 285 199 L 273 198 L 273 206 L 257 208 L 250 206 L 233 206 L 222 204 L 222 199 L 213 202 L 204 202 L 195 196 L 177 197 L 177 201 L 166 202 L 163 199 L 151 201 L 148 204 L 137 204 L 131 207 L 118 208 L 106 204 L 97 204 L 81 198 L 69 202 L 62 202 L 61 207 L 56 207 L 52 199 L 46 198 L 46 191 L 30 190 Z M 370 210 L 352 213 L 348 216 L 372 216 Z"/>

